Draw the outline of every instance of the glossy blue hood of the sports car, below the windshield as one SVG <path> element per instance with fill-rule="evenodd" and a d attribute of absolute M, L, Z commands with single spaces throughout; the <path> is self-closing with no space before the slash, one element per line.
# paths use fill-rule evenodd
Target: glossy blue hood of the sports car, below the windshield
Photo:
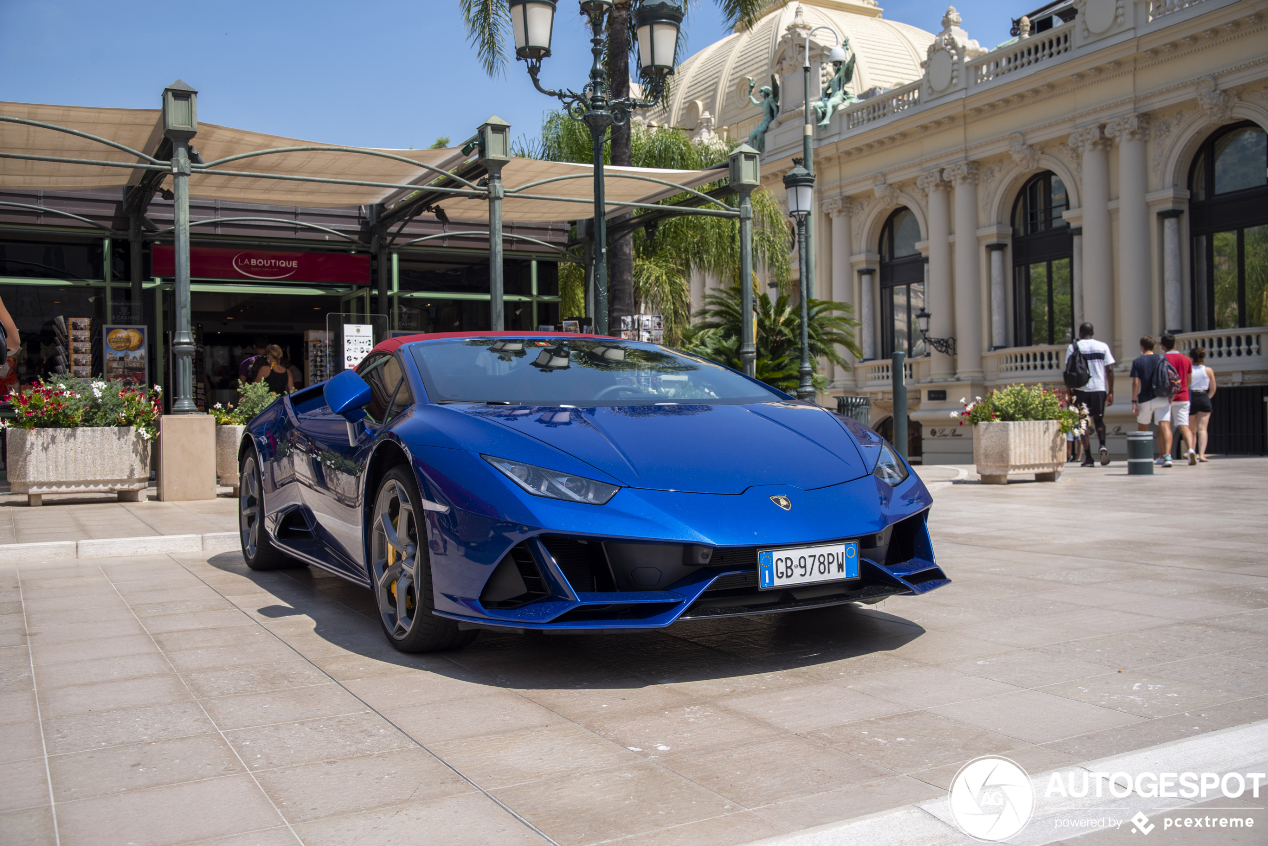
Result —
<path fill-rule="evenodd" d="M 467 413 L 544 441 L 637 488 L 743 493 L 754 485 L 789 485 L 813 490 L 870 472 L 834 416 L 803 403 L 484 406 L 468 407 Z"/>

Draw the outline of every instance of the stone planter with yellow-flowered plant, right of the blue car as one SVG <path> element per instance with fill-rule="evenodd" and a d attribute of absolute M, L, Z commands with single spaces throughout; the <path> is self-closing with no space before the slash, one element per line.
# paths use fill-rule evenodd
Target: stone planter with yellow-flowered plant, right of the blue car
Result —
<path fill-rule="evenodd" d="M 1011 384 L 975 402 L 960 401 L 951 416 L 973 426 L 973 462 L 983 485 L 1007 485 L 1009 473 L 1055 482 L 1065 467 L 1065 434 L 1083 434 L 1087 408 L 1041 384 Z"/>

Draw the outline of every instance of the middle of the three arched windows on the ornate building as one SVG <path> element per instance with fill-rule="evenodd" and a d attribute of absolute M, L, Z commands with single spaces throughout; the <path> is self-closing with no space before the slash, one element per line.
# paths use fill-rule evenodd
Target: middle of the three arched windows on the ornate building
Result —
<path fill-rule="evenodd" d="M 1065 183 L 1032 176 L 1013 204 L 1013 339 L 1017 346 L 1066 344 L 1074 332 L 1073 238 L 1061 214 Z"/>

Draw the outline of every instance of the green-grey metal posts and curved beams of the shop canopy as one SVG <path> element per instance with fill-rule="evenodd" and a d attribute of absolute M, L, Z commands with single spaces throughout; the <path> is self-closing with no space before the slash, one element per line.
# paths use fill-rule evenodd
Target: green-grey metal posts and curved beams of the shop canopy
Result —
<path fill-rule="evenodd" d="M 507 235 L 502 232 L 502 203 L 505 200 L 550 200 L 550 202 L 564 202 L 564 203 L 581 203 L 581 204 L 593 204 L 592 198 L 581 197 L 559 197 L 552 194 L 538 194 L 529 193 L 531 189 L 540 188 L 543 185 L 549 185 L 553 183 L 572 180 L 572 179 L 592 179 L 592 174 L 569 174 L 562 176 L 552 176 L 548 179 L 536 180 L 525 185 L 516 188 L 505 188 L 501 181 L 502 166 L 510 161 L 510 153 L 506 148 L 505 138 L 508 137 L 507 132 L 510 126 L 505 122 L 491 118 L 486 122 L 476 136 L 469 138 L 463 145 L 463 153 L 470 155 L 476 152 L 476 159 L 468 159 L 458 164 L 456 167 L 451 170 L 445 170 L 443 167 L 430 165 L 425 161 L 416 161 L 413 159 L 407 159 L 404 156 L 397 156 L 394 153 L 379 151 L 379 150 L 365 150 L 360 147 L 341 147 L 341 146 L 325 146 L 325 145 L 302 145 L 302 146 L 289 146 L 289 147 L 274 147 L 269 150 L 255 150 L 245 153 L 237 153 L 233 156 L 226 156 L 222 159 L 216 159 L 212 161 L 203 161 L 198 151 L 190 145 L 190 141 L 198 133 L 197 123 L 197 91 L 181 81 L 176 81 L 164 90 L 164 136 L 158 142 L 153 155 L 146 153 L 141 150 L 133 150 L 127 145 L 96 136 L 89 132 L 82 132 L 80 129 L 72 129 L 70 127 L 63 127 L 53 123 L 44 123 L 41 120 L 32 120 L 28 118 L 18 118 L 11 115 L 0 114 L 0 122 L 15 123 L 22 126 L 36 127 L 41 129 L 48 129 L 52 132 L 62 132 L 66 134 L 76 136 L 95 143 L 104 145 L 107 147 L 113 147 L 131 156 L 136 156 L 134 162 L 122 162 L 122 161 L 108 161 L 99 159 L 76 159 L 66 156 L 41 156 L 32 153 L 15 153 L 15 152 L 3 152 L 0 151 L 0 159 L 16 159 L 25 161 L 47 161 L 63 165 L 84 165 L 84 166 L 96 166 L 96 167 L 124 167 L 127 170 L 139 170 L 142 171 L 141 179 L 134 184 L 124 189 L 123 205 L 124 212 L 129 218 L 129 227 L 127 232 L 120 232 L 113 230 L 108 226 L 91 221 L 89 218 L 80 217 L 77 214 L 71 214 L 68 212 L 62 212 L 60 209 L 51 209 L 42 205 L 29 205 L 24 203 L 9 203 L 0 202 L 0 205 L 28 208 L 39 212 L 48 212 L 52 214 L 61 214 L 68 218 L 77 219 L 82 223 L 87 223 L 99 230 L 103 240 L 107 244 L 107 250 L 109 250 L 109 244 L 113 238 L 127 238 L 132 249 L 132 303 L 133 308 L 137 307 L 143 299 L 142 290 L 146 287 L 145 280 L 141 279 L 141 249 L 145 240 L 156 241 L 170 236 L 175 246 L 175 278 L 172 280 L 172 290 L 175 293 L 174 302 L 174 317 L 175 326 L 172 335 L 172 355 L 174 355 L 174 375 L 175 386 L 172 389 L 172 413 L 195 413 L 197 406 L 193 402 L 193 355 L 194 355 L 194 341 L 190 332 L 190 270 L 189 270 L 189 245 L 190 245 L 190 227 L 202 226 L 207 223 L 222 223 L 222 222 L 278 222 L 287 225 L 297 225 L 294 219 L 285 218 L 270 218 L 270 217 L 230 217 L 230 218 L 212 218 L 191 221 L 189 217 L 189 178 L 194 174 L 214 174 L 217 176 L 236 176 L 243 179 L 274 179 L 281 181 L 297 181 L 297 183 L 318 183 L 330 185 L 358 185 L 364 188 L 387 188 L 392 189 L 397 195 L 403 195 L 404 200 L 396 203 L 391 209 L 385 208 L 384 204 L 372 207 L 370 214 L 370 228 L 372 228 L 372 241 L 365 245 L 364 241 L 358 241 L 342 232 L 330 230 L 327 227 L 317 226 L 313 223 L 298 222 L 301 226 L 320 230 L 327 233 L 337 235 L 341 238 L 351 242 L 356 247 L 366 249 L 370 252 L 378 252 L 379 255 L 379 299 L 380 306 L 385 306 L 388 302 L 389 290 L 387 287 L 387 273 L 385 268 L 388 265 L 388 254 L 393 255 L 392 264 L 392 298 L 398 299 L 402 296 L 412 297 L 415 292 L 404 293 L 399 292 L 396 284 L 396 256 L 404 247 L 422 244 L 434 238 L 440 237 L 458 237 L 458 236 L 470 236 L 481 235 L 487 236 L 489 240 L 489 325 L 493 330 L 501 330 L 503 327 L 502 320 L 502 303 L 503 299 L 536 299 L 534 297 L 521 297 L 512 296 L 506 297 L 502 293 L 502 241 L 506 238 L 525 241 L 536 244 L 539 246 L 545 246 L 552 250 L 558 251 L 563 257 L 571 259 L 572 261 L 583 261 L 585 259 L 568 249 L 560 249 L 557 245 L 547 244 L 538 238 L 531 238 L 521 235 Z M 184 104 L 172 107 L 172 103 Z M 501 147 L 497 146 L 497 140 L 502 138 Z M 719 180 L 728 180 L 728 184 L 723 188 L 711 190 L 709 193 L 699 192 L 695 188 L 687 185 L 681 185 L 672 183 L 666 179 L 659 179 L 656 176 L 643 175 L 643 174 L 630 174 L 623 171 L 607 171 L 605 172 L 605 179 L 631 179 L 640 180 L 654 185 L 661 185 L 667 190 L 662 195 L 678 197 L 686 194 L 686 199 L 680 203 L 643 203 L 643 202 L 626 202 L 626 200 L 606 200 L 604 208 L 615 207 L 611 213 L 620 213 L 624 209 L 634 211 L 640 209 L 648 212 L 648 214 L 642 214 L 631 218 L 628 223 L 619 225 L 620 231 L 624 227 L 634 228 L 638 226 L 647 226 L 648 223 L 654 223 L 656 221 L 664 219 L 666 217 L 677 217 L 685 214 L 700 214 L 709 217 L 724 217 L 734 218 L 739 221 L 741 227 L 741 278 L 751 273 L 752 268 L 752 207 L 749 205 L 749 193 L 757 184 L 756 180 L 756 166 L 757 166 L 757 153 L 756 151 L 748 150 L 747 147 L 741 147 L 752 159 L 753 172 L 744 172 L 739 183 L 732 186 L 730 183 L 735 181 L 737 166 L 735 157 L 739 151 L 732 153 L 732 166 L 730 171 L 719 167 Z M 242 171 L 242 170 L 227 170 L 222 169 L 222 165 L 230 162 L 242 161 L 247 159 L 256 159 L 261 156 L 271 156 L 288 152 L 332 152 L 332 153 L 345 153 L 345 155 L 361 155 L 361 156 L 377 156 L 387 160 L 402 161 L 413 167 L 421 167 L 424 170 L 431 171 L 436 175 L 430 183 L 426 184 L 399 184 L 399 183 L 385 183 L 385 181 L 373 181 L 373 180 L 359 180 L 359 179 L 335 179 L 328 176 L 303 176 L 292 174 L 270 174 L 266 171 Z M 449 164 L 449 162 L 443 162 Z M 172 176 L 172 189 L 171 198 L 174 200 L 174 218 L 175 222 L 171 227 L 160 228 L 152 221 L 146 217 L 150 202 L 155 193 L 160 190 L 162 180 L 167 175 Z M 723 195 L 730 193 L 739 193 L 741 203 L 739 207 L 727 205 L 720 202 Z M 167 192 L 164 192 L 166 197 Z M 489 227 L 487 232 L 444 232 L 439 235 L 430 235 L 418 238 L 412 238 L 401 245 L 397 245 L 394 250 L 391 247 L 396 244 L 396 238 L 401 235 L 404 225 L 408 223 L 413 217 L 424 212 L 436 213 L 436 203 L 445 198 L 453 197 L 465 197 L 474 199 L 483 199 L 488 202 L 489 208 Z M 701 207 L 716 207 L 716 208 L 701 208 Z M 443 214 L 443 212 L 440 213 Z M 440 217 L 437 214 L 437 217 Z M 396 226 L 397 231 L 388 235 L 388 230 Z M 582 238 L 585 241 L 586 238 Z M 572 244 L 569 244 L 572 246 Z M 601 256 L 606 254 L 606 250 L 585 250 L 587 256 Z M 113 282 L 109 279 L 109 256 L 105 261 L 107 266 L 107 297 L 108 299 L 113 292 Z M 591 277 L 604 277 L 604 274 L 588 274 Z M 165 288 L 161 284 L 153 284 L 152 287 L 160 290 Z M 199 285 L 202 287 L 202 285 Z M 748 290 L 749 285 L 742 285 L 742 290 Z M 426 296 L 429 292 L 417 292 L 420 296 Z M 440 296 L 440 292 L 430 292 L 431 296 Z M 606 301 L 606 292 L 605 294 Z M 746 297 L 749 301 L 751 311 L 751 296 Z M 155 315 L 156 321 L 161 321 L 161 315 Z M 113 318 L 113 315 L 112 315 Z M 139 315 L 133 315 L 133 320 L 139 320 Z M 157 326 L 157 322 L 156 322 Z M 742 344 L 742 356 L 746 361 L 746 370 L 752 375 L 752 330 L 749 321 L 744 321 L 744 339 Z"/>

